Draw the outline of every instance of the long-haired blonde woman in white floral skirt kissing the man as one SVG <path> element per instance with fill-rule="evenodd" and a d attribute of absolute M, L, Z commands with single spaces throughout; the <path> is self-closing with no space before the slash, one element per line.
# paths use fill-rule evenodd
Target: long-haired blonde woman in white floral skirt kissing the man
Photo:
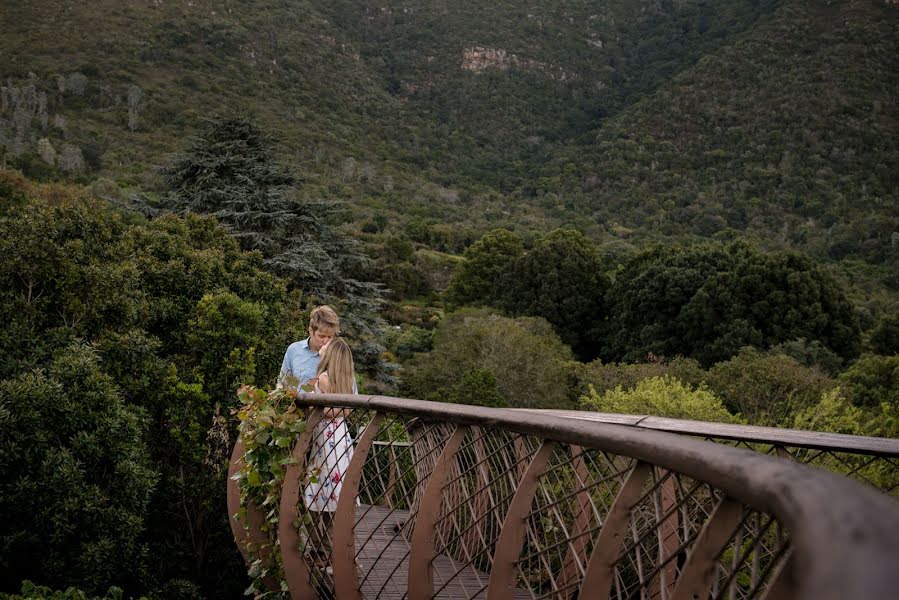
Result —
<path fill-rule="evenodd" d="M 340 338 L 334 338 L 322 349 L 321 362 L 315 379 L 310 380 L 315 392 L 322 394 L 355 394 L 356 378 L 353 372 L 353 353 Z M 310 455 L 310 482 L 304 490 L 306 508 L 314 511 L 315 526 L 312 550 L 319 556 L 316 562 L 324 562 L 330 554 L 328 532 L 332 513 L 337 510 L 337 499 L 343 486 L 343 476 L 353 456 L 353 438 L 346 424 L 346 411 L 325 408 L 315 427 Z M 322 565 L 324 566 L 324 565 Z"/>

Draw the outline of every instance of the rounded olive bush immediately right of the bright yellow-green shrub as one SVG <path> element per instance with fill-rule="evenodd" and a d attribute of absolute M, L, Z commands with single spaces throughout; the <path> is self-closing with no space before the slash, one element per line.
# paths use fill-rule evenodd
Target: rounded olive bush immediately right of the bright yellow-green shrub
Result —
<path fill-rule="evenodd" d="M 747 423 L 785 427 L 836 383 L 815 367 L 778 354 L 744 348 L 708 371 L 706 382 Z"/>

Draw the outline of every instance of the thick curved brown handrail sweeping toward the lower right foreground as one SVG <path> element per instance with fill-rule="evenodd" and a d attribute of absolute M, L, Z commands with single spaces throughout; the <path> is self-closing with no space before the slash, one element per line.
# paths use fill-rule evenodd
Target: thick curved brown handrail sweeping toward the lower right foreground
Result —
<path fill-rule="evenodd" d="M 539 436 L 633 457 L 706 482 L 776 516 L 793 536 L 787 575 L 802 598 L 891 598 L 899 589 L 899 503 L 823 470 L 658 429 L 388 396 L 299 394 L 307 406 L 408 415 Z"/>

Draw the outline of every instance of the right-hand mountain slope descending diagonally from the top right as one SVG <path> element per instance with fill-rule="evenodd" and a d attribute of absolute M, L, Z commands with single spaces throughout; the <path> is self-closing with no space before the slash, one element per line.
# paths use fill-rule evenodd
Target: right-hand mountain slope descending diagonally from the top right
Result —
<path fill-rule="evenodd" d="M 753 232 L 895 265 L 896 16 L 884 3 L 785 4 L 563 159 L 577 165 L 563 195 L 600 222 Z"/>

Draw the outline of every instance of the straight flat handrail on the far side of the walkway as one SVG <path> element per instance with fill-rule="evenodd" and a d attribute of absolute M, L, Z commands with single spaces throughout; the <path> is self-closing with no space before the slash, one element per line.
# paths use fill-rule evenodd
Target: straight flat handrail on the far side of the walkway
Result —
<path fill-rule="evenodd" d="M 555 410 L 546 408 L 511 409 L 535 414 L 549 414 L 571 419 L 595 421 L 615 425 L 628 425 L 654 431 L 667 431 L 682 435 L 721 438 L 746 443 L 772 444 L 775 446 L 799 446 L 831 452 L 851 452 L 877 456 L 899 457 L 899 439 L 808 431 L 758 425 L 734 425 L 689 419 L 671 419 L 652 415 L 626 415 L 582 410 Z"/>

